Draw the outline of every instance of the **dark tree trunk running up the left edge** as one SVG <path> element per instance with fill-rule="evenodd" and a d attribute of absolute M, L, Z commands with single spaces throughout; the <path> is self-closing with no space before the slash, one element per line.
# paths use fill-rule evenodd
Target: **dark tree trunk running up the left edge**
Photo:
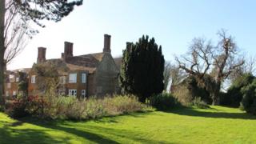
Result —
<path fill-rule="evenodd" d="M 4 105 L 4 70 L 5 70 L 5 61 L 4 61 L 4 54 L 5 54 L 5 38 L 4 38 L 4 31 L 5 31 L 5 14 L 6 14 L 6 1 L 0 1 L 0 105 Z"/>

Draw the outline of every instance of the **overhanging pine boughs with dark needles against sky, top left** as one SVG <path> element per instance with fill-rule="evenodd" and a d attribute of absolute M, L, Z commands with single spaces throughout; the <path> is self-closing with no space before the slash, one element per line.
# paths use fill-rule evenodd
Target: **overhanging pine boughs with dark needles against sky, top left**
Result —
<path fill-rule="evenodd" d="M 42 26 L 40 23 L 42 20 L 60 21 L 74 10 L 74 6 L 80 5 L 82 5 L 82 0 L 14 1 L 14 6 L 18 10 L 18 13 L 22 15 L 21 18 L 23 21 L 32 20 L 39 26 Z"/>

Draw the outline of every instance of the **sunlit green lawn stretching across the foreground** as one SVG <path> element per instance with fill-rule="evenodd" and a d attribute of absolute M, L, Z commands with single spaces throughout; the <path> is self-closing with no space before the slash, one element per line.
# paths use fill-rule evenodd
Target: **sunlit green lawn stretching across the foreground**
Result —
<path fill-rule="evenodd" d="M 88 122 L 15 121 L 0 113 L 0 143 L 255 143 L 256 117 L 222 106 L 135 113 Z"/>

